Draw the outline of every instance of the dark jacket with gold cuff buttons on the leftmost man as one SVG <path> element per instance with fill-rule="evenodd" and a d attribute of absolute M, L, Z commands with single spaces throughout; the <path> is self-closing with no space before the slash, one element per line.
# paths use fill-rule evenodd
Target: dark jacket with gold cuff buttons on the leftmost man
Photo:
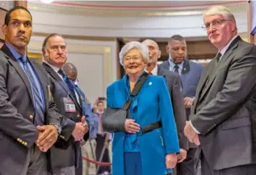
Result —
<path fill-rule="evenodd" d="M 44 124 L 60 123 L 62 115 L 57 113 L 54 102 L 48 98 L 51 82 L 47 73 L 41 65 L 29 61 L 44 92 Z M 35 108 L 30 82 L 6 45 L 0 51 L 0 104 L 0 174 L 20 174 L 27 152 L 35 144 L 39 132 L 33 124 Z M 48 153 L 48 165 L 49 160 Z"/>

